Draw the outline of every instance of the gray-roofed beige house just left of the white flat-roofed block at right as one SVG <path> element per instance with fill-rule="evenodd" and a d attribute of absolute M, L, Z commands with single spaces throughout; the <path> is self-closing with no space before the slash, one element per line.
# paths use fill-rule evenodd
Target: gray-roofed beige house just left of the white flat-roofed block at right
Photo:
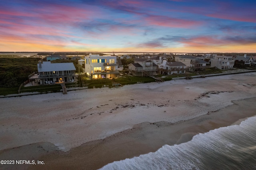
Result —
<path fill-rule="evenodd" d="M 176 62 L 182 62 L 186 65 L 189 71 L 202 70 L 210 68 L 210 65 L 207 65 L 208 62 L 198 59 L 192 55 L 178 55 L 175 56 Z"/>

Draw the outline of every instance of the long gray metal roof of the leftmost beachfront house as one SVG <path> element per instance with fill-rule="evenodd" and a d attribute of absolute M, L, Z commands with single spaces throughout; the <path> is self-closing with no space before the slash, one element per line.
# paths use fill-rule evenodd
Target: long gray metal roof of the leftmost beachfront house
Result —
<path fill-rule="evenodd" d="M 73 63 L 51 63 L 50 61 L 44 61 L 42 68 L 37 64 L 37 69 L 38 72 L 76 70 Z"/>

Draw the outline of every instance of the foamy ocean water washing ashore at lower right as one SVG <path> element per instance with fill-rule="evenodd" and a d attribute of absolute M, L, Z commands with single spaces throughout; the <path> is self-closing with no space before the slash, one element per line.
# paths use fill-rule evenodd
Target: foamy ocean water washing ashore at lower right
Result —
<path fill-rule="evenodd" d="M 102 170 L 255 170 L 256 117 L 195 135 L 186 143 L 112 162 Z"/>

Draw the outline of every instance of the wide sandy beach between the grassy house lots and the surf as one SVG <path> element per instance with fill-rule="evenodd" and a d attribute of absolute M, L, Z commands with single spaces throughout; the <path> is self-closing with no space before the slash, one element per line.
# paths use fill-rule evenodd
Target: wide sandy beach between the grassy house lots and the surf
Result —
<path fill-rule="evenodd" d="M 256 115 L 256 73 L 0 99 L 1 169 L 98 169 Z"/>

